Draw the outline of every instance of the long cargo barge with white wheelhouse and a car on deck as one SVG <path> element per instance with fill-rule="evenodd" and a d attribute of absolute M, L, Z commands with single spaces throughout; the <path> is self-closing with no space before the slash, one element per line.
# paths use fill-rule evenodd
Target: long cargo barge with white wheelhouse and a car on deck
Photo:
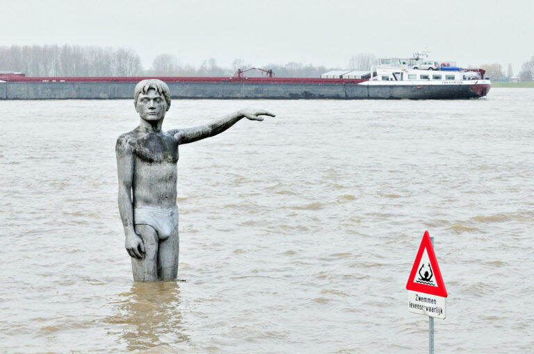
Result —
<path fill-rule="evenodd" d="M 430 72 L 384 65 L 362 78 L 150 78 L 165 81 L 172 99 L 471 99 L 489 92 L 483 75 L 482 69 Z M 132 99 L 145 78 L 0 74 L 0 99 Z"/>

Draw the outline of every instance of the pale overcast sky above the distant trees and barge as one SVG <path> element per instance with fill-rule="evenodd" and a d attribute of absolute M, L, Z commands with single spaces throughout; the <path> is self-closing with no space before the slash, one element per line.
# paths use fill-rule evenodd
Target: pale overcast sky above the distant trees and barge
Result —
<path fill-rule="evenodd" d="M 458 65 L 508 62 L 517 74 L 534 56 L 533 1 L 6 1 L 0 46 L 127 47 L 149 68 L 171 53 L 182 64 L 235 58 L 348 67 L 361 52 Z"/>

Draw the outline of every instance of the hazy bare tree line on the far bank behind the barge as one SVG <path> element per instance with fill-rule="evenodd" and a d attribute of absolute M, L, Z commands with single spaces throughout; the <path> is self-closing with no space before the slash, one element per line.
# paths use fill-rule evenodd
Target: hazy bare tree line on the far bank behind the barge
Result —
<path fill-rule="evenodd" d="M 367 71 L 377 63 L 373 53 L 359 53 L 348 61 L 348 69 Z M 200 66 L 182 65 L 172 54 L 161 54 L 144 69 L 138 54 L 131 49 L 113 47 L 82 47 L 77 45 L 10 46 L 0 47 L 0 71 L 23 72 L 27 76 L 233 76 L 237 69 L 254 65 L 236 59 L 230 67 L 220 67 L 215 59 L 204 60 Z M 315 66 L 300 62 L 284 65 L 270 63 L 279 77 L 316 78 L 330 70 L 344 68 Z M 505 73 L 499 63 L 483 64 L 486 76 L 494 80 L 512 78 L 512 65 Z M 246 76 L 264 76 L 261 71 L 248 71 Z M 534 56 L 521 67 L 521 81 L 534 81 Z"/>

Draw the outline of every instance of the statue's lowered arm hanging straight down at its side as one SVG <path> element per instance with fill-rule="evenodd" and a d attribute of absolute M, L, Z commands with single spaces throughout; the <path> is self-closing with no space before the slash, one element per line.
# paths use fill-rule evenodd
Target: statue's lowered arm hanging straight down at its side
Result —
<path fill-rule="evenodd" d="M 131 257 L 143 258 L 145 252 L 143 240 L 133 228 L 133 205 L 131 202 L 131 185 L 133 180 L 133 146 L 126 135 L 121 135 L 115 146 L 117 171 L 119 177 L 119 212 L 126 240 L 124 246 Z"/>

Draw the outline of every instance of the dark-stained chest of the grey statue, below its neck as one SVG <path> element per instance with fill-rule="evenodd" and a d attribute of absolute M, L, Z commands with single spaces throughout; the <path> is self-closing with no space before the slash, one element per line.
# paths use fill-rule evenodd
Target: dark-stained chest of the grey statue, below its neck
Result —
<path fill-rule="evenodd" d="M 149 134 L 137 140 L 136 155 L 149 163 L 176 163 L 178 161 L 178 146 L 172 137 Z"/>

